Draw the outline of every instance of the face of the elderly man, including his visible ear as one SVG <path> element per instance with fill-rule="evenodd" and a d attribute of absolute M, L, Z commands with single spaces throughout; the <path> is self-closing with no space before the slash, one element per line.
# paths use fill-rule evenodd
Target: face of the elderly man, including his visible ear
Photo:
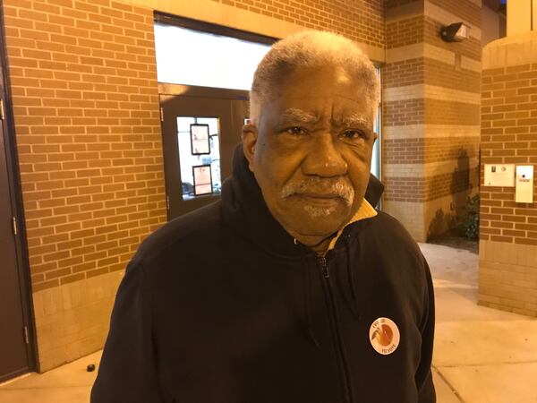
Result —
<path fill-rule="evenodd" d="M 302 70 L 279 83 L 243 145 L 268 210 L 304 244 L 337 232 L 362 203 L 374 107 L 345 70 Z"/>

